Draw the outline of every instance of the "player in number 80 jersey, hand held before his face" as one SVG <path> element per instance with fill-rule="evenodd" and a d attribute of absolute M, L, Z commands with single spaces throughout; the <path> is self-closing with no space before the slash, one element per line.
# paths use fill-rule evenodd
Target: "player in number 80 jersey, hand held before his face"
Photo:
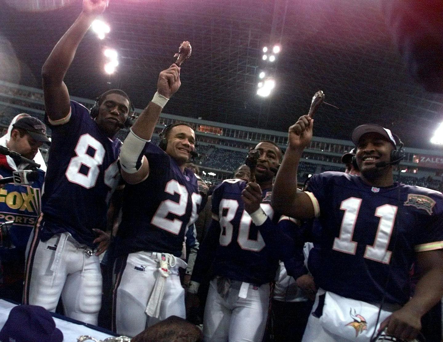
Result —
<path fill-rule="evenodd" d="M 289 218 L 273 221 L 270 205 L 272 180 L 282 152 L 269 141 L 260 142 L 255 149 L 260 152 L 257 183 L 249 183 L 255 191 L 245 192 L 247 183 L 241 179 L 225 180 L 215 188 L 213 220 L 200 245 L 191 277 L 189 291 L 197 292 L 212 264 L 214 278 L 210 281 L 203 318 L 207 342 L 262 340 L 270 283 L 276 278 L 279 265 L 279 255 L 268 244 L 272 240 L 268 235 L 282 229 L 288 232 L 288 241 L 295 233 L 296 224 Z M 267 236 L 262 236 L 262 229 Z M 288 272 L 291 273 L 290 268 Z"/>

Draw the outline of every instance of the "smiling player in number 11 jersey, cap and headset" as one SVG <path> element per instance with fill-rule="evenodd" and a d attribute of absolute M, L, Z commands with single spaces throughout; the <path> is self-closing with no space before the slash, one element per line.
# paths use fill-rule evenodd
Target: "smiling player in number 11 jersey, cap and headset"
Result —
<path fill-rule="evenodd" d="M 324 172 L 311 177 L 307 192 L 297 191 L 313 122 L 303 115 L 289 128 L 272 197 L 276 210 L 319 217 L 322 226 L 320 290 L 303 341 L 369 341 L 377 330 L 410 341 L 443 296 L 443 195 L 394 183 L 392 165 L 403 158 L 403 144 L 373 124 L 351 135 L 360 176 Z M 423 273 L 410 298 L 415 260 Z"/>

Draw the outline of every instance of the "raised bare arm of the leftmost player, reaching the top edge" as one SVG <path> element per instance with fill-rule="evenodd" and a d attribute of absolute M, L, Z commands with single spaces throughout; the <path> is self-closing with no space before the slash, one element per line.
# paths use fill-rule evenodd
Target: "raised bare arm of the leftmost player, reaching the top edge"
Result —
<path fill-rule="evenodd" d="M 105 11 L 109 0 L 83 0 L 83 10 L 74 24 L 54 46 L 43 64 L 42 79 L 46 113 L 52 121 L 66 118 L 70 112 L 69 92 L 63 82 L 78 44 L 93 20 Z"/>

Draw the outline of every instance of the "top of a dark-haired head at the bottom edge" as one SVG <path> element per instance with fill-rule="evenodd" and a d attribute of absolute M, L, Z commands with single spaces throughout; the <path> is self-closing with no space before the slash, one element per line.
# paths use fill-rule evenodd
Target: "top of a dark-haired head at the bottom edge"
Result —
<path fill-rule="evenodd" d="M 203 334 L 187 320 L 170 316 L 131 339 L 132 342 L 202 342 Z"/>

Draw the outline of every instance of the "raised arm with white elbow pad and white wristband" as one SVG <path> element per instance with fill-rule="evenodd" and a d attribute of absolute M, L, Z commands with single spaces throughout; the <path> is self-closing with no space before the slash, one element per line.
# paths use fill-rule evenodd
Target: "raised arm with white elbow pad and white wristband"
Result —
<path fill-rule="evenodd" d="M 149 163 L 142 152 L 146 142 L 151 141 L 155 124 L 163 107 L 180 88 L 180 68 L 173 64 L 163 70 L 155 93 L 148 107 L 144 108 L 134 126 L 124 139 L 120 151 L 121 175 L 129 184 L 137 184 L 149 176 Z"/>

